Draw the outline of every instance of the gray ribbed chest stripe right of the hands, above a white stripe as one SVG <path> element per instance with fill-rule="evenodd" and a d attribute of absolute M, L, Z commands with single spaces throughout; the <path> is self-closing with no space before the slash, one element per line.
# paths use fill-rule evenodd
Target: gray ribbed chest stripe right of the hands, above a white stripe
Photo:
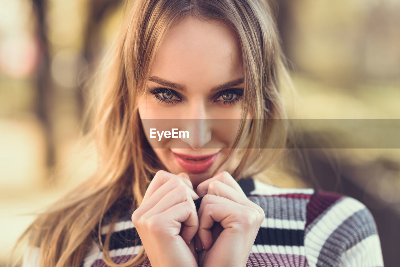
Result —
<path fill-rule="evenodd" d="M 248 196 L 247 198 L 262 207 L 266 218 L 306 221 L 308 199 L 276 196 Z"/>

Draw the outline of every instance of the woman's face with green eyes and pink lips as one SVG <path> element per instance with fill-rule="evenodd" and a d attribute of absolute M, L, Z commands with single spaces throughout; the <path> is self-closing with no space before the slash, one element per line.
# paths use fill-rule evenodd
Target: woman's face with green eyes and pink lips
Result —
<path fill-rule="evenodd" d="M 147 86 L 138 106 L 146 138 L 166 171 L 187 172 L 196 188 L 237 134 L 244 84 L 236 35 L 221 22 L 188 16 L 162 42 Z"/>

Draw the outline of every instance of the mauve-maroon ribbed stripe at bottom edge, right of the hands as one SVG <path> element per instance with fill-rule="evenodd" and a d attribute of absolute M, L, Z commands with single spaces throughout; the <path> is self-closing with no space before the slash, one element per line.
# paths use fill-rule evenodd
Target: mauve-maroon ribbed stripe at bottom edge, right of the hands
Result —
<path fill-rule="evenodd" d="M 246 267 L 308 267 L 305 256 L 275 253 L 250 253 Z"/>

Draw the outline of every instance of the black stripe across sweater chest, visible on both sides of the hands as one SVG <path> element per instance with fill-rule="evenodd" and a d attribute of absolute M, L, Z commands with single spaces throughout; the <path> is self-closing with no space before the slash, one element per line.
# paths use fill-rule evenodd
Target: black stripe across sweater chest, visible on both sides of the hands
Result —
<path fill-rule="evenodd" d="M 106 235 L 102 235 L 102 242 Z M 109 249 L 121 249 L 142 245 L 140 237 L 135 228 L 114 232 L 110 238 Z M 282 245 L 282 246 L 303 246 L 304 231 L 294 229 L 260 228 L 257 233 L 254 245 Z"/>

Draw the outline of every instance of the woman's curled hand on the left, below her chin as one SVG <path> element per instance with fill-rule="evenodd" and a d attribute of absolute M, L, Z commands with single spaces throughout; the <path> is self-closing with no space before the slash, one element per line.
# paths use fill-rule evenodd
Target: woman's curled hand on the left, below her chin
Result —
<path fill-rule="evenodd" d="M 158 171 L 132 214 L 153 267 L 198 266 L 193 243 L 188 246 L 199 225 L 193 202 L 198 195 L 184 176 Z"/>

